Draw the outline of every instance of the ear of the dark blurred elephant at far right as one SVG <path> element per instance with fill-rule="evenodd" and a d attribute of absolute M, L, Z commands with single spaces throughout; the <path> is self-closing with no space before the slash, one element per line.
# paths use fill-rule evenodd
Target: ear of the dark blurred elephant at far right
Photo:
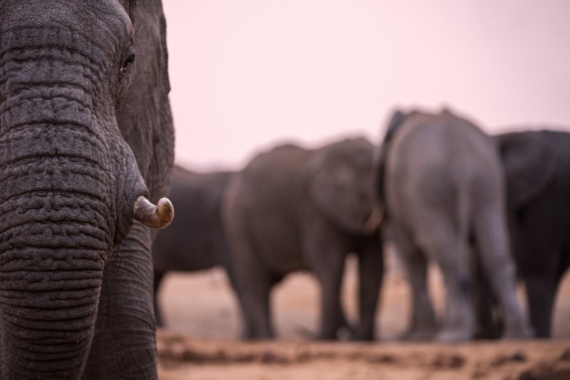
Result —
<path fill-rule="evenodd" d="M 507 202 L 515 209 L 539 197 L 554 180 L 556 160 L 540 132 L 507 133 L 497 136 Z"/>

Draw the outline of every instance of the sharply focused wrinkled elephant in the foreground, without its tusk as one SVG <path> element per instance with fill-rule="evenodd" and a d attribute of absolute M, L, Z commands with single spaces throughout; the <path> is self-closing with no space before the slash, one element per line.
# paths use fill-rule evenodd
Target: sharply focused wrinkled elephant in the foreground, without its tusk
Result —
<path fill-rule="evenodd" d="M 156 379 L 133 205 L 172 167 L 162 4 L 0 0 L 0 40 L 0 377 Z"/>

